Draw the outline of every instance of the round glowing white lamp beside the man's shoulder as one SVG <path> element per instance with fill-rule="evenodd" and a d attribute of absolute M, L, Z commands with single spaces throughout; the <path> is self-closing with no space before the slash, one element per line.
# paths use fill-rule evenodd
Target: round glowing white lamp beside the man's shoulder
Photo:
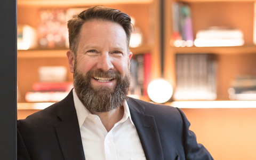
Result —
<path fill-rule="evenodd" d="M 148 97 L 156 103 L 164 103 L 172 97 L 172 86 L 164 79 L 156 79 L 148 85 Z"/>

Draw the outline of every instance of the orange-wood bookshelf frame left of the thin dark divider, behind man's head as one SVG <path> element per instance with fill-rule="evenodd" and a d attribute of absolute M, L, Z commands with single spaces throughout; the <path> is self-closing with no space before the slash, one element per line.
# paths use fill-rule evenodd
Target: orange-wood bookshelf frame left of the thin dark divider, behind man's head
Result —
<path fill-rule="evenodd" d="M 29 25 L 37 28 L 38 10 L 61 8 L 69 9 L 73 7 L 89 7 L 92 5 L 105 5 L 119 9 L 136 20 L 136 26 L 140 28 L 143 34 L 143 43 L 136 48 L 130 48 L 133 55 L 150 53 L 151 54 L 151 79 L 160 75 L 159 65 L 159 27 L 158 27 L 158 10 L 159 2 L 153 0 L 139 1 L 42 1 L 42 0 L 18 0 L 17 14 L 18 25 Z M 38 68 L 41 66 L 65 66 L 67 69 L 68 61 L 66 57 L 66 48 L 58 49 L 31 49 L 18 50 L 17 54 L 17 77 L 20 98 L 18 100 L 18 109 L 20 104 L 26 103 L 25 94 L 32 90 L 32 85 L 38 82 Z M 67 75 L 68 82 L 73 81 L 73 74 Z M 144 98 L 145 99 L 145 98 Z M 147 98 L 146 98 L 147 99 Z M 148 99 L 147 99 L 148 100 Z M 33 104 L 26 103 L 28 106 Z M 24 106 L 24 105 L 23 105 Z M 24 108 L 23 108 L 24 109 Z M 28 108 L 26 108 L 28 109 Z M 31 107 L 33 109 L 33 107 Z"/>

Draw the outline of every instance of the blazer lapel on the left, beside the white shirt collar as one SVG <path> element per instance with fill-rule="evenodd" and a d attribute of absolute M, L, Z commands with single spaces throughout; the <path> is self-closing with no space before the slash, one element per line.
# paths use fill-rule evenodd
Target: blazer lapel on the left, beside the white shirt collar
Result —
<path fill-rule="evenodd" d="M 57 113 L 61 122 L 55 124 L 55 130 L 62 154 L 65 159 L 85 160 L 72 91 L 61 103 Z"/>

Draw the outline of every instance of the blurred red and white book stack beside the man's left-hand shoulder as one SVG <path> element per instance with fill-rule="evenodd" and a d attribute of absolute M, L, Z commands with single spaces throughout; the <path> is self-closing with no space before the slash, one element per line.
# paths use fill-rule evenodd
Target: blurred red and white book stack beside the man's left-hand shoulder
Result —
<path fill-rule="evenodd" d="M 27 102 L 58 102 L 65 98 L 73 88 L 73 82 L 67 82 L 66 67 L 39 68 L 39 82 L 33 84 L 33 91 L 27 92 Z"/>

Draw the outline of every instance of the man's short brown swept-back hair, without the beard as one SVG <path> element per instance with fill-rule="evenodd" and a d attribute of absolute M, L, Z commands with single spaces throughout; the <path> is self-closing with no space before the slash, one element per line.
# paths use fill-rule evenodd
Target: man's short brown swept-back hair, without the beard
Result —
<path fill-rule="evenodd" d="M 130 16 L 117 9 L 97 5 L 84 10 L 83 12 L 78 14 L 78 17 L 68 21 L 69 49 L 75 54 L 75 58 L 78 42 L 80 39 L 81 27 L 86 21 L 89 20 L 110 21 L 121 25 L 125 30 L 127 49 L 129 50 L 129 42 L 132 32 Z"/>

